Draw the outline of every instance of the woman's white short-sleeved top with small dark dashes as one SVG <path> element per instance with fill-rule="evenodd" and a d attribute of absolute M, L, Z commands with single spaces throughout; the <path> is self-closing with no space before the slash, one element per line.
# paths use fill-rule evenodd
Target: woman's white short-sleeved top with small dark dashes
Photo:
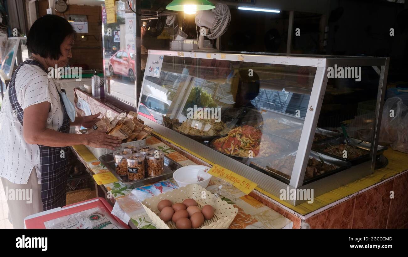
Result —
<path fill-rule="evenodd" d="M 47 128 L 58 131 L 64 120 L 59 84 L 40 67 L 24 64 L 16 75 L 15 87 L 23 110 L 41 102 L 51 104 Z M 22 126 L 13 113 L 7 88 L 0 111 L 0 176 L 15 184 L 27 184 L 33 167 L 40 184 L 40 149 L 38 145 L 24 141 Z"/>

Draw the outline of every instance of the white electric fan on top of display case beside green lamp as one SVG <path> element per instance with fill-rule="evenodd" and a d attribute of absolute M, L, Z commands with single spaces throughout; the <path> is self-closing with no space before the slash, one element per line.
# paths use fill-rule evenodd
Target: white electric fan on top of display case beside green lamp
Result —
<path fill-rule="evenodd" d="M 214 48 L 204 48 L 204 36 L 209 39 L 221 37 L 231 22 L 231 13 L 226 4 L 215 4 L 215 8 L 197 11 L 195 24 L 200 27 L 198 51 L 214 51 Z"/>

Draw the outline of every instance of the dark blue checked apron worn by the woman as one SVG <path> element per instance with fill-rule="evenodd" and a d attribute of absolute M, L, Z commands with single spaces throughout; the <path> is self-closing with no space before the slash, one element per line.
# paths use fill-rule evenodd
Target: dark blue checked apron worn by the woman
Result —
<path fill-rule="evenodd" d="M 47 70 L 35 60 L 24 61 L 18 65 L 16 71 L 13 73 L 9 83 L 9 99 L 13 112 L 16 113 L 18 121 L 23 125 L 24 111 L 21 108 L 17 100 L 15 80 L 18 70 L 24 64 L 36 65 L 44 72 Z M 63 89 L 61 89 L 64 91 Z M 61 94 L 60 102 L 64 111 L 64 121 L 58 132 L 69 133 L 70 119 L 65 110 L 64 102 L 62 101 Z M 66 200 L 66 187 L 67 187 L 67 173 L 68 173 L 68 159 L 71 148 L 69 146 L 64 147 L 50 147 L 38 145 L 40 148 L 40 161 L 41 161 L 41 200 L 44 211 L 49 209 L 62 207 L 65 205 Z"/>

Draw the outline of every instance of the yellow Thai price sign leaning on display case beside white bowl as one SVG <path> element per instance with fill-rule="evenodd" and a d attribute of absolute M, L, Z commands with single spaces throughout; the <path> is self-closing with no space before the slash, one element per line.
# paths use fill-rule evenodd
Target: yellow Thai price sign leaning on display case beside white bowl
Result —
<path fill-rule="evenodd" d="M 228 183 L 231 183 L 234 187 L 237 187 L 245 194 L 251 193 L 251 191 L 257 186 L 257 183 L 249 179 L 246 179 L 243 176 L 238 175 L 235 172 L 228 170 L 218 164 L 215 164 L 213 168 L 208 170 L 208 174 L 211 174 Z"/>

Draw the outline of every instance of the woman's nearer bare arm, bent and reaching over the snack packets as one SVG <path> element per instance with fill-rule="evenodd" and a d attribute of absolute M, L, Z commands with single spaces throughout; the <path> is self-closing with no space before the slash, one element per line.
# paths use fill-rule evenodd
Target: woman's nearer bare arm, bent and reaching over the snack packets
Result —
<path fill-rule="evenodd" d="M 69 134 L 54 131 L 47 128 L 48 110 L 51 104 L 41 102 L 24 109 L 23 137 L 28 144 L 39 144 L 43 146 L 74 146 L 85 144 L 97 148 L 109 148 L 115 150 L 120 146 L 118 137 L 106 135 L 103 132 L 91 134 Z"/>

